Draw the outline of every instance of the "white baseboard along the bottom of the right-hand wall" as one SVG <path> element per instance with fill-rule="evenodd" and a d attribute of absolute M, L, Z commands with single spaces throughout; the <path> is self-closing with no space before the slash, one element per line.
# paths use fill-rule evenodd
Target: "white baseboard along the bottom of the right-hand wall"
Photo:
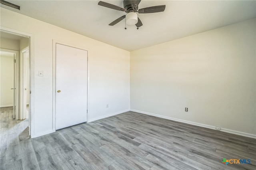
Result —
<path fill-rule="evenodd" d="M 198 126 L 198 127 L 205 127 L 205 128 L 210 128 L 210 129 L 216 130 L 214 126 L 205 125 L 205 124 L 202 124 L 202 123 L 185 121 L 185 120 L 182 120 L 182 119 L 176 119 L 176 118 L 172 118 L 172 117 L 157 115 L 157 114 L 148 113 L 148 112 L 144 112 L 144 111 L 138 111 L 138 110 L 134 110 L 134 109 L 130 109 L 130 111 L 137 112 L 137 113 L 142 113 L 142 114 L 145 114 L 145 115 L 160 117 L 160 118 L 164 118 L 164 119 L 168 119 L 168 120 L 172 120 L 172 121 L 176 121 L 176 122 L 187 123 L 187 124 L 195 125 L 195 126 Z M 255 138 L 256 139 L 256 134 L 250 134 L 250 133 L 240 132 L 240 131 L 226 129 L 226 128 L 220 128 L 219 131 L 232 133 L 232 134 L 237 134 L 237 135 L 240 135 L 240 136 L 246 136 L 246 137 L 249 137 L 249 138 Z"/>

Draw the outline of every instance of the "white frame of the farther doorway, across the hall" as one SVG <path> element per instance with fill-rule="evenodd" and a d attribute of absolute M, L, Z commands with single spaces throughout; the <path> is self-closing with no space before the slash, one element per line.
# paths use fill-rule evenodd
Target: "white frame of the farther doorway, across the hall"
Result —
<path fill-rule="evenodd" d="M 15 120 L 18 120 L 19 119 L 19 111 L 20 111 L 20 109 L 19 109 L 19 106 L 20 106 L 20 104 L 19 104 L 19 94 L 20 94 L 20 88 L 19 88 L 19 82 L 20 82 L 20 80 L 19 80 L 19 78 L 20 78 L 20 51 L 16 51 L 16 50 L 12 50 L 12 49 L 5 49 L 5 48 L 0 48 L 0 51 L 3 51 L 3 52 L 8 52 L 8 53 L 14 53 L 15 55 L 16 55 L 16 68 L 15 68 L 15 72 L 14 72 L 14 75 L 15 75 L 15 80 L 13 80 L 13 81 L 15 81 L 15 89 L 14 89 L 14 91 L 15 91 L 15 103 L 13 103 L 13 106 L 15 105 L 15 111 L 16 111 L 16 113 L 15 113 Z M 14 94 L 13 94 L 14 95 Z"/>

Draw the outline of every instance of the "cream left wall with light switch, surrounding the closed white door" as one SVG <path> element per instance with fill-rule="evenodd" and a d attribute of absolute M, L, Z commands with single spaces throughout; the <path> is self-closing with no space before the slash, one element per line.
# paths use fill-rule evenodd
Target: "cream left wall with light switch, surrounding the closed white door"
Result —
<path fill-rule="evenodd" d="M 32 137 L 52 131 L 52 41 L 88 49 L 89 120 L 130 109 L 130 52 L 1 8 L 1 26 L 33 34 L 35 91 Z M 32 63 L 33 64 L 33 63 Z M 44 71 L 44 77 L 38 76 Z M 109 108 L 106 108 L 109 104 Z"/>

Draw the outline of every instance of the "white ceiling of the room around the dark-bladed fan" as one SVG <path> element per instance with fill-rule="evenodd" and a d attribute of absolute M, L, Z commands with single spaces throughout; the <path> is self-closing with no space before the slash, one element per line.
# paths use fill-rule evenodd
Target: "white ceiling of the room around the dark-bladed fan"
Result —
<path fill-rule="evenodd" d="M 99 0 L 6 0 L 20 11 L 1 7 L 48 22 L 110 45 L 133 51 L 158 43 L 205 32 L 256 17 L 256 1 L 173 1 L 142 0 L 139 8 L 166 5 L 164 12 L 138 14 L 143 23 L 125 27 L 125 20 L 112 21 L 126 14 L 98 5 Z M 122 0 L 102 0 L 123 7 Z"/>

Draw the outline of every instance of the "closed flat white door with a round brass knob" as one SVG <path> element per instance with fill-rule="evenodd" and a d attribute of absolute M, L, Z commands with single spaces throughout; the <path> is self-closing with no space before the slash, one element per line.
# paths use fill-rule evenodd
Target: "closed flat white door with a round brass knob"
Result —
<path fill-rule="evenodd" d="M 87 51 L 56 43 L 56 130 L 87 121 Z"/>

